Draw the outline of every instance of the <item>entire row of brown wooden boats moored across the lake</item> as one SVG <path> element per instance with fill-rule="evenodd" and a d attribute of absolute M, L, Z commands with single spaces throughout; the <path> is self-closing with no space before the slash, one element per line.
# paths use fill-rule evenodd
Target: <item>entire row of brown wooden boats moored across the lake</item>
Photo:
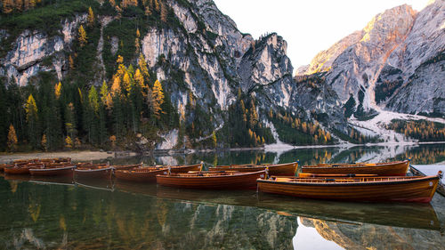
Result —
<path fill-rule="evenodd" d="M 20 162 L 4 168 L 28 168 L 29 173 L 53 173 L 54 165 L 44 161 Z M 203 170 L 203 164 L 177 166 L 106 165 L 70 162 L 77 177 L 111 178 L 117 181 L 157 182 L 159 185 L 199 190 L 257 189 L 264 193 L 298 198 L 353 201 L 430 202 L 442 173 L 434 176 L 406 176 L 409 160 L 389 163 L 320 164 L 301 167 L 298 162 L 278 165 L 219 165 Z M 43 166 L 42 166 L 43 165 Z"/>

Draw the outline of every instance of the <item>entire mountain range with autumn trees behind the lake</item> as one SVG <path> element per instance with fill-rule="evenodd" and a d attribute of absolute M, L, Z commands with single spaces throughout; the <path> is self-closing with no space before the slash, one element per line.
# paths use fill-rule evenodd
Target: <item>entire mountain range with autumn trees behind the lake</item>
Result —
<path fill-rule="evenodd" d="M 211 0 L 3 8 L 0 149 L 382 141 L 348 118 L 442 114 L 443 3 L 377 14 L 296 77 L 283 37 L 240 32 Z"/>

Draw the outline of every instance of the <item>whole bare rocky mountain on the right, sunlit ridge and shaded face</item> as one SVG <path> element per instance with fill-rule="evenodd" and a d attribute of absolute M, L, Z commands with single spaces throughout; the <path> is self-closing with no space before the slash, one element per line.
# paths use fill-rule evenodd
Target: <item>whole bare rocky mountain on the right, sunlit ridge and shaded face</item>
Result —
<path fill-rule="evenodd" d="M 445 2 L 421 12 L 401 5 L 320 52 L 299 74 L 327 72 L 326 83 L 344 103 L 363 111 L 443 114 Z"/>

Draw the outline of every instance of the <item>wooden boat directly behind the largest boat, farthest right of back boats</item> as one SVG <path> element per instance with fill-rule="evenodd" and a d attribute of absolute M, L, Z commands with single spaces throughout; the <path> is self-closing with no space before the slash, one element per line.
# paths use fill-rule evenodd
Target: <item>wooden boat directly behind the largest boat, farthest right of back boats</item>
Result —
<path fill-rule="evenodd" d="M 380 176 L 405 176 L 408 169 L 409 160 L 405 160 L 389 163 L 303 165 L 302 173 L 356 173 L 377 174 Z"/>

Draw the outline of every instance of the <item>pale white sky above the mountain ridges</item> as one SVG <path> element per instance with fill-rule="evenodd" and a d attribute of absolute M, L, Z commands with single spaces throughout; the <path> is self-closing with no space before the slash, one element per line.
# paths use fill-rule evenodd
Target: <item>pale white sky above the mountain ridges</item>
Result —
<path fill-rule="evenodd" d="M 214 0 L 239 31 L 259 36 L 277 32 L 287 41 L 294 69 L 309 64 L 320 51 L 365 28 L 376 14 L 409 4 L 420 11 L 428 0 Z"/>

